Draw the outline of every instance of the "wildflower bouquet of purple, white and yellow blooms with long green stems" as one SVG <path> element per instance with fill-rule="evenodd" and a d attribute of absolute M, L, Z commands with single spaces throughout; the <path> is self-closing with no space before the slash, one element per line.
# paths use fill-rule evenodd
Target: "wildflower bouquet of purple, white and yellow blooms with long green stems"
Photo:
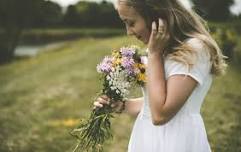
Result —
<path fill-rule="evenodd" d="M 112 51 L 97 65 L 97 72 L 102 75 L 101 95 L 107 95 L 109 105 L 93 109 L 88 120 L 82 120 L 71 134 L 78 139 L 74 151 L 103 151 L 102 145 L 112 137 L 110 119 L 116 111 L 110 106 L 122 101 L 125 104 L 129 89 L 133 84 L 143 85 L 146 81 L 144 58 L 137 46 L 122 47 Z M 123 110 L 123 109 L 122 109 Z"/>

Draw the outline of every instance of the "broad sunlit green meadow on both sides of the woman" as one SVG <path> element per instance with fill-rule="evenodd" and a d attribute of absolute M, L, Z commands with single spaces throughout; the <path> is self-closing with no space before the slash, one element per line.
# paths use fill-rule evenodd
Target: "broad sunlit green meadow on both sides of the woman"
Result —
<path fill-rule="evenodd" d="M 37 57 L 0 66 L 0 151 L 68 152 L 69 132 L 89 116 L 100 89 L 96 64 L 113 48 L 136 41 L 80 39 Z M 241 151 L 241 71 L 230 65 L 215 79 L 202 108 L 214 152 Z M 132 96 L 137 96 L 133 93 Z M 117 116 L 105 152 L 125 152 L 134 118 Z"/>

